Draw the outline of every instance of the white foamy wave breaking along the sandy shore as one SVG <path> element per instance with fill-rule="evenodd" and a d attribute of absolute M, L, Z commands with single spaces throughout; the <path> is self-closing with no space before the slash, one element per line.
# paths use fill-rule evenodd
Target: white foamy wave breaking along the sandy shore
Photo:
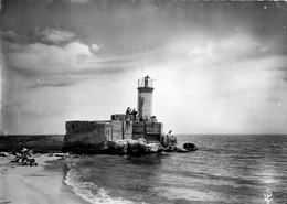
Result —
<path fill-rule="evenodd" d="M 73 187 L 76 195 L 89 203 L 103 203 L 103 204 L 135 204 L 135 202 L 124 198 L 116 198 L 108 195 L 108 191 L 97 186 L 92 182 L 82 181 L 83 175 L 86 173 L 77 172 L 70 168 L 66 173 L 65 183 Z"/>

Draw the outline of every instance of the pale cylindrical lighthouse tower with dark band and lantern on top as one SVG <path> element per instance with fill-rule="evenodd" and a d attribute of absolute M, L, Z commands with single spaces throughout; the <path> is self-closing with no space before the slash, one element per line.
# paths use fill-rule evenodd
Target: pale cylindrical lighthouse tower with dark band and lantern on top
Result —
<path fill-rule="evenodd" d="M 152 92 L 153 79 L 148 75 L 138 79 L 138 112 L 140 120 L 150 119 L 152 114 Z"/>

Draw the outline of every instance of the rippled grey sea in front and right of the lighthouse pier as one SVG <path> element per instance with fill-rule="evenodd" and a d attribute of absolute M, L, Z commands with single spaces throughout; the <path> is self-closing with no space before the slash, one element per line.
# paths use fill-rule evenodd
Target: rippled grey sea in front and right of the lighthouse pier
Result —
<path fill-rule="evenodd" d="M 73 158 L 65 183 L 89 203 L 287 203 L 287 136 L 177 138 L 199 150 Z"/>

